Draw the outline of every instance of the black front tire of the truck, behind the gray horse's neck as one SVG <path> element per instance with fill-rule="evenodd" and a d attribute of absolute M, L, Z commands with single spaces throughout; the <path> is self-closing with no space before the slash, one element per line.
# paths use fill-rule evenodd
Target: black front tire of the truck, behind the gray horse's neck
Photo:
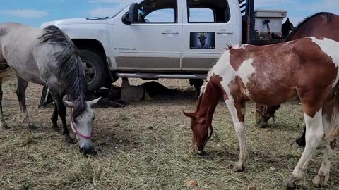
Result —
<path fill-rule="evenodd" d="M 95 51 L 88 49 L 81 49 L 79 51 L 85 68 L 88 89 L 90 91 L 97 91 L 105 84 L 107 78 L 105 61 Z"/>

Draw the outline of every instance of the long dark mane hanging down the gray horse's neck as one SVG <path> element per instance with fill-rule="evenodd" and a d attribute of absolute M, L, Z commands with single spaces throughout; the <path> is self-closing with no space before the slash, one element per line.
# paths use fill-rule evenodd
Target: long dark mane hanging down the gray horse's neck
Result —
<path fill-rule="evenodd" d="M 53 44 L 63 47 L 64 49 L 54 54 L 54 58 L 59 65 L 57 76 L 64 79 L 67 84 L 66 92 L 75 103 L 72 117 L 76 118 L 82 115 L 86 110 L 88 101 L 88 87 L 85 81 L 83 65 L 76 46 L 71 39 L 61 32 L 59 27 L 47 26 L 44 29 L 40 39 L 40 44 Z"/>

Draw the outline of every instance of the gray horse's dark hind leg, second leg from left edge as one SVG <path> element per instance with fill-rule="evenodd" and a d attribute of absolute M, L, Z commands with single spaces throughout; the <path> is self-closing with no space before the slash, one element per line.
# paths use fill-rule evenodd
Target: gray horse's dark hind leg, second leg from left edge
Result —
<path fill-rule="evenodd" d="M 30 121 L 30 118 L 28 117 L 27 109 L 26 109 L 26 88 L 28 86 L 28 81 L 23 80 L 21 77 L 18 78 L 18 87 L 16 89 L 16 95 L 18 95 L 18 101 L 20 105 L 20 110 L 23 115 L 23 121 L 26 122 L 29 129 L 34 129 L 35 125 Z"/>

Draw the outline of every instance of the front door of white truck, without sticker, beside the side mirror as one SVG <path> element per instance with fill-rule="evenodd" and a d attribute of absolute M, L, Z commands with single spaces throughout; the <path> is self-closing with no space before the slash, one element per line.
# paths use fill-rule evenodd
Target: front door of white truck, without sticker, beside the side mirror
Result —
<path fill-rule="evenodd" d="M 138 4 L 138 23 L 124 25 L 120 19 L 112 29 L 118 70 L 180 70 L 181 9 L 177 0 L 145 0 Z"/>

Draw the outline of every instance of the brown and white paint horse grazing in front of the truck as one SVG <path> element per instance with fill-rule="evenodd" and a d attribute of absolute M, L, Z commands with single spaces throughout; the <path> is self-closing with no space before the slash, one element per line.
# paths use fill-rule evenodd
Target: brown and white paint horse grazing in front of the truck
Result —
<path fill-rule="evenodd" d="M 268 46 L 234 46 L 222 54 L 208 73 L 191 118 L 193 148 L 202 153 L 213 132 L 212 117 L 220 97 L 230 110 L 239 141 L 239 161 L 234 171 L 244 170 L 249 159 L 244 134 L 245 103 L 254 101 L 278 105 L 299 96 L 304 110 L 306 141 L 299 163 L 284 187 L 302 179 L 307 164 L 322 139 L 326 151 L 316 186 L 326 185 L 331 154 L 339 136 L 338 65 L 339 43 L 331 39 L 307 37 Z"/>

